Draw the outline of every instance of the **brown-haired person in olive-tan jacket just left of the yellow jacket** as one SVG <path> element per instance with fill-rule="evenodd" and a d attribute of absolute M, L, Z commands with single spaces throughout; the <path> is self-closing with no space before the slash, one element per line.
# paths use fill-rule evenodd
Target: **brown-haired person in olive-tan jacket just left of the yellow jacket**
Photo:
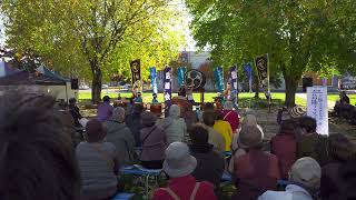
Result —
<path fill-rule="evenodd" d="M 219 151 L 224 152 L 225 151 L 225 139 L 222 134 L 217 132 L 214 129 L 215 124 L 215 112 L 214 111 L 205 111 L 202 113 L 202 121 L 204 124 L 206 126 L 206 129 L 209 132 L 209 143 L 214 144 L 214 148 Z"/>

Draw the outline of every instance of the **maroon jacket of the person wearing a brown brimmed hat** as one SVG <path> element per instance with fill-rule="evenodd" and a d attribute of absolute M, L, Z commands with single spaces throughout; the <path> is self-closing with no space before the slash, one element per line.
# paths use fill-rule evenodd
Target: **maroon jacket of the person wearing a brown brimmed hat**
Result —
<path fill-rule="evenodd" d="M 250 149 L 234 160 L 237 190 L 233 200 L 256 200 L 267 190 L 276 190 L 280 178 L 278 159 L 261 150 Z"/>

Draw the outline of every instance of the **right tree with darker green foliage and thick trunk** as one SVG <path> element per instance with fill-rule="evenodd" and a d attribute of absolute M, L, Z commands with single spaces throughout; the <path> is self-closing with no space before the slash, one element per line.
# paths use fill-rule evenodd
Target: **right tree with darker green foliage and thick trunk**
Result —
<path fill-rule="evenodd" d="M 241 63 L 269 53 L 286 82 L 286 104 L 305 71 L 355 70 L 353 0 L 186 0 L 199 47 L 212 59 Z"/>

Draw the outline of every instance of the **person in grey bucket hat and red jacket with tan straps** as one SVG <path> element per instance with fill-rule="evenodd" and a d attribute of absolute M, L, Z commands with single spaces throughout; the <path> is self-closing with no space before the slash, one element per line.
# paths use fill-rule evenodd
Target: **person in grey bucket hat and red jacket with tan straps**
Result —
<path fill-rule="evenodd" d="M 170 180 L 167 188 L 154 191 L 154 200 L 217 200 L 211 183 L 197 182 L 191 176 L 197 160 L 190 154 L 186 143 L 174 142 L 165 153 L 164 171 Z"/>

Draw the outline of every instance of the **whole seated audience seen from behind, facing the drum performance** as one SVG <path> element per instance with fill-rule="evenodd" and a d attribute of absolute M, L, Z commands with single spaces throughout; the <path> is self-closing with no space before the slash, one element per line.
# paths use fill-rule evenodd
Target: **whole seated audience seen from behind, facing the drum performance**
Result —
<path fill-rule="evenodd" d="M 140 103 L 129 113 L 113 108 L 106 97 L 75 144 L 81 119 L 75 100 L 59 109 L 49 97 L 3 96 L 0 199 L 110 199 L 122 189 L 119 169 L 131 164 L 162 169 L 169 178 L 155 200 L 218 199 L 224 172 L 236 184 L 234 200 L 356 198 L 355 144 L 342 133 L 318 134 L 316 120 L 298 108 L 278 117 L 270 143 L 251 109 L 240 117 L 230 101 L 224 110 L 207 104 L 195 120 L 182 118 L 184 109 L 171 103 L 159 119 Z M 278 191 L 278 180 L 285 190 Z"/>

